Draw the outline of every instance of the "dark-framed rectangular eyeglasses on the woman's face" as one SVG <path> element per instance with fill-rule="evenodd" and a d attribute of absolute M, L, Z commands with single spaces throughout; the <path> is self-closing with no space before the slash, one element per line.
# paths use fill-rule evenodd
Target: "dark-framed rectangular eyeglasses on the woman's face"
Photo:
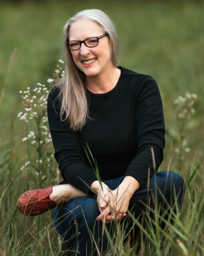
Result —
<path fill-rule="evenodd" d="M 82 43 L 84 43 L 85 46 L 87 47 L 95 47 L 98 45 L 98 40 L 106 35 L 108 35 L 108 33 L 104 35 L 100 35 L 98 37 L 89 37 L 83 41 L 79 41 L 79 40 L 66 41 L 66 45 L 70 48 L 70 50 L 73 50 L 73 51 L 78 50 L 81 47 Z"/>

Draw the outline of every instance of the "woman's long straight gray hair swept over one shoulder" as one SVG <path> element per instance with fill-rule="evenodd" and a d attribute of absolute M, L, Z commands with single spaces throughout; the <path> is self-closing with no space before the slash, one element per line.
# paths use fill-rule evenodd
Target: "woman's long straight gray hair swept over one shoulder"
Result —
<path fill-rule="evenodd" d="M 68 120 L 70 128 L 74 131 L 81 130 L 87 119 L 90 119 L 88 113 L 88 101 L 85 89 L 85 75 L 80 71 L 73 61 L 70 49 L 65 42 L 69 39 L 70 26 L 79 19 L 88 19 L 98 23 L 104 33 L 108 33 L 110 45 L 113 49 L 113 65 L 118 63 L 118 37 L 112 20 L 103 11 L 98 9 L 87 9 L 76 13 L 71 17 L 64 26 L 64 59 L 65 72 L 61 80 L 56 84 L 60 88 L 61 111 L 60 118 L 62 121 Z"/>

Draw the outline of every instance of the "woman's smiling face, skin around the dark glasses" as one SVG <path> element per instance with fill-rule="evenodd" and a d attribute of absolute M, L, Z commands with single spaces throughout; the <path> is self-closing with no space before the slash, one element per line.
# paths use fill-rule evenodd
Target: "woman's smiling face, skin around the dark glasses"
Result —
<path fill-rule="evenodd" d="M 69 40 L 82 41 L 103 34 L 104 30 L 100 25 L 91 20 L 81 19 L 70 26 Z M 74 63 L 86 77 L 97 77 L 113 67 L 111 51 L 109 37 L 105 36 L 99 39 L 97 46 L 90 48 L 82 43 L 81 48 L 71 50 L 71 54 Z"/>

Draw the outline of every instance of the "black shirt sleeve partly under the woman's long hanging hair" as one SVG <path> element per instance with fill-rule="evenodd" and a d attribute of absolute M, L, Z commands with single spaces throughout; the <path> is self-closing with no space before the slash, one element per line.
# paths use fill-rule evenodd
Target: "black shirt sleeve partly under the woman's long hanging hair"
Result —
<path fill-rule="evenodd" d="M 59 164 L 62 178 L 85 194 L 89 194 L 88 186 L 97 178 L 81 154 L 77 132 L 70 129 L 69 122 L 62 122 L 60 119 L 60 104 L 59 100 L 56 100 L 58 93 L 59 88 L 53 88 L 47 100 L 47 115 L 55 149 L 54 156 Z"/>

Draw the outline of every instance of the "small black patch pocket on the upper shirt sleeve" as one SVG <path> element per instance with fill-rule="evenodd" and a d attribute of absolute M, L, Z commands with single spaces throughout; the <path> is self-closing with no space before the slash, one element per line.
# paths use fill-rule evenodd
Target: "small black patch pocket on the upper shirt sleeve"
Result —
<path fill-rule="evenodd" d="M 150 116 L 163 115 L 161 99 L 149 98 L 145 100 L 146 114 Z"/>

